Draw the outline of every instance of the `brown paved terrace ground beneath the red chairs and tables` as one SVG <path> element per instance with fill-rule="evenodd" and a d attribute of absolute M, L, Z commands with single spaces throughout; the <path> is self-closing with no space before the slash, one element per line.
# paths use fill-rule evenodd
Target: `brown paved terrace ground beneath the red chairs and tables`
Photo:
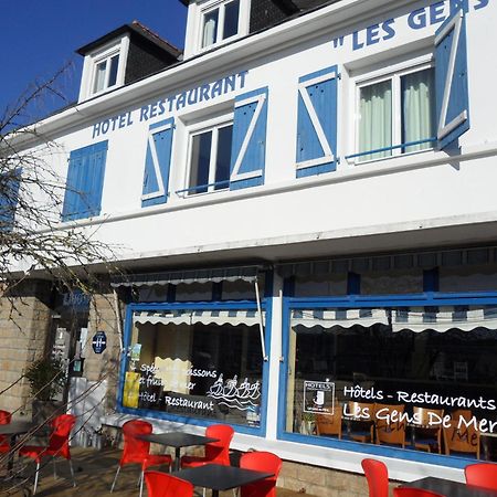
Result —
<path fill-rule="evenodd" d="M 102 495 L 112 495 L 118 497 L 137 497 L 139 489 L 137 487 L 137 480 L 139 476 L 139 468 L 137 465 L 124 466 L 120 470 L 117 479 L 116 488 L 110 494 L 110 485 L 116 473 L 117 462 L 120 457 L 120 451 L 116 450 L 103 450 L 96 451 L 93 448 L 73 448 L 73 465 L 76 477 L 76 487 L 72 486 L 71 473 L 65 459 L 57 459 L 57 479 L 53 476 L 53 464 L 45 464 L 41 472 L 39 487 L 36 496 L 39 497 L 67 497 L 67 496 L 81 496 L 81 497 L 97 497 Z M 28 477 L 32 475 L 34 469 L 33 465 L 29 465 L 24 473 Z M 160 468 L 158 468 L 160 469 Z M 23 484 L 23 480 L 19 480 L 19 484 Z M 3 496 L 23 496 L 31 495 L 32 479 L 25 482 L 23 487 L 27 491 L 14 490 L 11 485 L 6 487 L 6 483 L 0 488 L 0 495 Z M 202 495 L 201 489 L 199 495 Z M 144 491 L 144 496 L 147 493 Z M 208 493 L 209 495 L 209 493 Z M 283 488 L 277 489 L 278 497 L 302 497 L 297 493 L 293 493 Z M 232 491 L 221 493 L 222 497 L 233 497 Z M 306 496 L 309 497 L 309 496 Z"/>

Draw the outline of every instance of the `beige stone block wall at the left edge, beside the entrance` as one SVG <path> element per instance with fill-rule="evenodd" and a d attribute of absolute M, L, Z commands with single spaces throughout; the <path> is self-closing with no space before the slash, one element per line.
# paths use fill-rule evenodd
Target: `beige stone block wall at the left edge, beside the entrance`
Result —
<path fill-rule="evenodd" d="M 30 281 L 0 298 L 0 409 L 15 417 L 29 413 L 30 389 L 25 380 L 15 383 L 24 369 L 46 350 L 51 309 L 51 284 Z M 14 384 L 15 383 L 15 384 Z"/>

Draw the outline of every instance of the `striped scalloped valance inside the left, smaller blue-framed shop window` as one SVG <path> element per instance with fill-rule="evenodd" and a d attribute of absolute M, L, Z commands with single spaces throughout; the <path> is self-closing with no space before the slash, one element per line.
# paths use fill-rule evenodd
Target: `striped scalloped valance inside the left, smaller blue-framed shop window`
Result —
<path fill-rule="evenodd" d="M 263 311 L 263 322 L 265 313 Z M 258 326 L 260 318 L 256 309 L 240 310 L 136 310 L 133 315 L 134 324 L 145 325 L 245 325 Z"/>

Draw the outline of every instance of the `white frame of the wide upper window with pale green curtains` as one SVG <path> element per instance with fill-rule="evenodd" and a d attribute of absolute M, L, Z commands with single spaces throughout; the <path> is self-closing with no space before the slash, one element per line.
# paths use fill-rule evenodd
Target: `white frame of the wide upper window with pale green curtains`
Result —
<path fill-rule="evenodd" d="M 412 154 L 422 154 L 433 150 L 433 147 L 426 147 L 423 150 L 413 150 L 408 152 L 402 152 L 402 147 L 392 148 L 391 155 L 387 157 L 379 157 L 374 159 L 362 159 L 361 157 L 355 157 L 359 150 L 359 128 L 360 128 L 360 91 L 366 86 L 370 86 L 377 83 L 382 83 L 385 81 L 392 82 L 392 147 L 402 144 L 402 101 L 401 101 L 401 77 L 408 74 L 417 73 L 427 68 L 433 68 L 434 59 L 432 54 L 417 57 L 416 60 L 410 60 L 396 64 L 389 70 L 378 70 L 371 71 L 364 75 L 355 77 L 351 80 L 353 86 L 353 105 L 355 105 L 355 121 L 353 121 L 353 144 L 352 150 L 349 156 L 346 157 L 349 165 L 363 165 L 368 162 L 376 162 L 378 160 L 389 160 L 396 157 L 409 156 Z M 433 88 L 435 92 L 435 88 Z M 436 134 L 436 129 L 434 130 Z"/>

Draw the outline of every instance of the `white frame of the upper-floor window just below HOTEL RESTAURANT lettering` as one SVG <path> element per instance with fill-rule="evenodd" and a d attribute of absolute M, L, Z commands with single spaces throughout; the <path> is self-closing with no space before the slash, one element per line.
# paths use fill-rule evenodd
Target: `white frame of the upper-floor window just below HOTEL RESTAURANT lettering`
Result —
<path fill-rule="evenodd" d="M 213 117 L 209 120 L 202 120 L 202 123 L 191 125 L 188 127 L 188 147 L 187 147 L 187 175 L 186 175 L 186 181 L 184 181 L 184 189 L 180 190 L 178 193 L 183 198 L 190 198 L 190 197 L 197 197 L 208 193 L 216 193 L 221 191 L 225 191 L 230 188 L 229 184 L 226 187 L 214 189 L 214 182 L 215 182 L 215 160 L 218 159 L 218 154 L 212 154 L 213 150 L 218 150 L 218 136 L 219 136 L 219 129 L 224 128 L 226 126 L 233 126 L 233 117 L 234 113 L 226 113 L 218 117 Z M 214 131 L 212 133 L 212 142 L 211 142 L 211 157 L 209 162 L 209 180 L 208 184 L 208 191 L 203 192 L 197 192 L 194 190 L 191 190 L 190 187 L 190 179 L 191 179 L 191 161 L 192 161 L 192 152 L 193 152 L 193 137 L 201 135 L 203 133 L 208 131 Z"/>

